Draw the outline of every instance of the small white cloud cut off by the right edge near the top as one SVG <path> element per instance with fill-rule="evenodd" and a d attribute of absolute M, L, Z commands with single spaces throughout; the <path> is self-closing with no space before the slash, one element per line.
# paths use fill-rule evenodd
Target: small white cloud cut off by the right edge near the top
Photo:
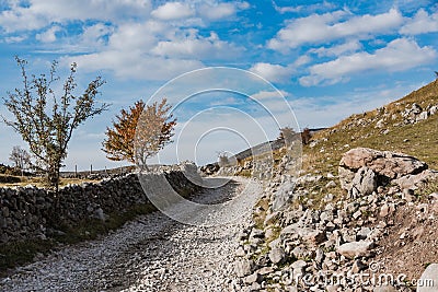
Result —
<path fill-rule="evenodd" d="M 438 32 L 438 12 L 428 14 L 424 9 L 417 11 L 413 19 L 400 28 L 401 34 L 417 35 Z"/>

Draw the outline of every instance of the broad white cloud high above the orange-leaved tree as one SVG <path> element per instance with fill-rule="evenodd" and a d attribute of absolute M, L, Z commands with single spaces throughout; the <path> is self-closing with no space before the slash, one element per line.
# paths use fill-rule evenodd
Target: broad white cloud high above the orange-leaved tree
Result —
<path fill-rule="evenodd" d="M 99 36 L 108 28 L 96 27 Z M 197 30 L 174 27 L 159 21 L 125 23 L 112 31 L 99 51 L 66 58 L 76 60 L 87 71 L 110 70 L 120 78 L 168 80 L 205 67 L 203 59 L 235 58 L 242 48 L 219 39 L 216 33 L 203 37 Z"/>

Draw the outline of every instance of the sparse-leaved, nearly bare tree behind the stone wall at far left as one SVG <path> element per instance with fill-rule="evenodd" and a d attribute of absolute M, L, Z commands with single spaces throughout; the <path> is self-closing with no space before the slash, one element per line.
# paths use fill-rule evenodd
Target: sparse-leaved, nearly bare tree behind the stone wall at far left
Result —
<path fill-rule="evenodd" d="M 15 120 L 3 121 L 21 135 L 36 159 L 36 165 L 47 174 L 47 183 L 58 191 L 59 170 L 67 157 L 67 145 L 71 135 L 88 118 L 101 114 L 108 105 L 95 104 L 99 89 L 105 83 L 101 77 L 89 83 L 81 95 L 74 95 L 77 65 L 72 63 L 70 73 L 64 82 L 60 97 L 53 85 L 59 81 L 54 61 L 48 77 L 31 77 L 26 73 L 27 61 L 15 57 L 21 69 L 23 87 L 8 92 L 4 105 Z"/>

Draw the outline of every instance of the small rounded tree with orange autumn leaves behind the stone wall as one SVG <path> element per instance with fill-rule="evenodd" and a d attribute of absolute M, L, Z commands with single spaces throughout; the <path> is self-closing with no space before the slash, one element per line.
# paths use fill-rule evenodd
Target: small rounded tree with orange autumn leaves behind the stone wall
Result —
<path fill-rule="evenodd" d="M 127 160 L 147 168 L 146 160 L 170 143 L 174 135 L 176 119 L 172 119 L 170 109 L 166 98 L 148 106 L 138 101 L 128 110 L 122 109 L 113 128 L 106 128 L 106 139 L 102 143 L 106 157 Z"/>

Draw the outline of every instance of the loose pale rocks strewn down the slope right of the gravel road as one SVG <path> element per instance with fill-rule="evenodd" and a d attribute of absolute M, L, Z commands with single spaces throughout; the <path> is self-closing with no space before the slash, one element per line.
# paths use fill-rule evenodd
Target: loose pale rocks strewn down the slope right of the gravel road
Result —
<path fill-rule="evenodd" d="M 254 223 L 240 234 L 235 273 L 241 290 L 410 291 L 396 279 L 373 281 L 372 276 L 379 280 L 374 260 L 399 208 L 412 208 L 415 222 L 437 224 L 438 194 L 422 203 L 414 196 L 422 184 L 437 177 L 414 157 L 354 149 L 339 164 L 339 180 L 348 196 L 338 201 L 325 196 L 324 207 L 313 209 L 299 186 L 321 177 L 283 182 L 285 176 L 277 176 L 265 191 L 268 207 L 255 210 L 255 215 L 265 214 L 263 224 Z M 438 277 L 434 280 L 438 287 Z"/>

